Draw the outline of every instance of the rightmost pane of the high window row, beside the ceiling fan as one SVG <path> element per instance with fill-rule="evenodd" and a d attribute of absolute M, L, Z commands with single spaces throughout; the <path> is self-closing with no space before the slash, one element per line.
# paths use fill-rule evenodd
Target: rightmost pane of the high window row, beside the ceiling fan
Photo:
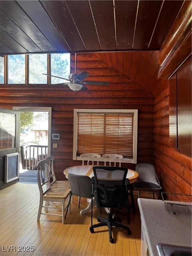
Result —
<path fill-rule="evenodd" d="M 70 74 L 70 53 L 51 54 L 51 75 L 67 78 Z M 65 83 L 66 80 L 51 77 L 51 84 Z"/>

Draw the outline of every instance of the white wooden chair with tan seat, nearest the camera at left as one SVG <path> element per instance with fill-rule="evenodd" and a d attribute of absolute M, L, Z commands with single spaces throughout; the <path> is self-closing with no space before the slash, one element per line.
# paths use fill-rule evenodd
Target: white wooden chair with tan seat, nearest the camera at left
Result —
<path fill-rule="evenodd" d="M 48 177 L 47 165 L 49 164 L 48 160 L 41 160 L 37 164 L 37 182 L 40 193 L 40 201 L 39 201 L 39 211 L 37 215 L 37 221 L 40 220 L 41 214 L 45 215 L 56 215 L 62 217 L 62 224 L 64 224 L 64 216 L 65 216 L 65 201 L 71 194 L 70 188 L 59 188 L 59 187 L 51 187 Z M 54 213 L 44 213 L 42 212 L 42 208 L 47 208 L 43 206 L 43 202 L 59 202 L 62 204 L 61 210 L 62 214 L 54 214 Z M 51 206 L 49 208 L 58 209 L 58 206 Z"/>

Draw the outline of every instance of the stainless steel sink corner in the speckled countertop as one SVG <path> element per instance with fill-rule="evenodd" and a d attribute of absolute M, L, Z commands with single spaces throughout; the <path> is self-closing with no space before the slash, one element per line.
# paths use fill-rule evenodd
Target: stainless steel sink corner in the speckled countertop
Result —
<path fill-rule="evenodd" d="M 158 244 L 157 250 L 159 256 L 191 256 L 192 248 L 171 244 Z"/>

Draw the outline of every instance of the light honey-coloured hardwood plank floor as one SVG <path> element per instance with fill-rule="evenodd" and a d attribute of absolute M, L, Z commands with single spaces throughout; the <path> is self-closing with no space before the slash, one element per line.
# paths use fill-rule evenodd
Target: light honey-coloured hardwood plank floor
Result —
<path fill-rule="evenodd" d="M 83 209 L 86 205 L 86 200 L 82 198 L 80 208 Z M 38 206 L 37 184 L 16 183 L 0 191 L 0 255 L 140 255 L 141 222 L 138 209 L 136 215 L 131 214 L 129 227 L 132 234 L 128 236 L 124 230 L 114 227 L 112 229 L 116 243 L 111 244 L 107 228 L 101 227 L 98 231 L 95 229 L 95 233 L 90 233 L 90 213 L 80 215 L 77 197 L 74 197 L 71 213 L 67 214 L 64 225 L 60 216 L 41 215 L 37 222 Z M 60 209 L 54 211 L 56 213 Z M 95 207 L 93 223 L 97 223 L 97 215 L 99 209 Z M 102 215 L 106 215 L 104 210 Z M 122 223 L 126 224 L 125 217 L 122 218 Z M 11 245 L 16 246 L 16 251 L 7 250 Z M 19 252 L 18 246 L 24 246 L 23 249 L 33 246 L 34 251 Z M 3 252 L 3 249 L 6 251 Z"/>

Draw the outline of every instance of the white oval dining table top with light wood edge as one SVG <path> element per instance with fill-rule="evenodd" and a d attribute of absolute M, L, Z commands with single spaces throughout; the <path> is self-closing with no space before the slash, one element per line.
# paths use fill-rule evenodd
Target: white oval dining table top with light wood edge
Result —
<path fill-rule="evenodd" d="M 76 174 L 76 175 L 86 175 L 91 169 L 92 169 L 93 165 L 77 165 L 77 166 L 71 166 L 67 169 L 64 170 L 64 174 L 67 177 L 68 173 L 72 173 L 72 174 Z M 90 173 L 89 177 L 93 177 L 93 171 Z M 136 179 L 138 178 L 138 173 L 128 169 L 127 172 L 127 179 L 130 180 L 130 183 L 133 183 L 136 181 Z"/>

